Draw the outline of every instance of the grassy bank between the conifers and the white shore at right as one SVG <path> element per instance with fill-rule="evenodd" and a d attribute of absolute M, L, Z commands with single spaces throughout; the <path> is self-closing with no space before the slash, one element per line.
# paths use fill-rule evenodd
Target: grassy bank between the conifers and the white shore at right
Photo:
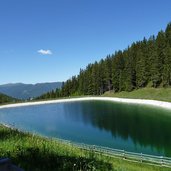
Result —
<path fill-rule="evenodd" d="M 103 96 L 131 99 L 151 99 L 171 102 L 171 88 L 143 88 L 131 92 L 106 92 Z"/>

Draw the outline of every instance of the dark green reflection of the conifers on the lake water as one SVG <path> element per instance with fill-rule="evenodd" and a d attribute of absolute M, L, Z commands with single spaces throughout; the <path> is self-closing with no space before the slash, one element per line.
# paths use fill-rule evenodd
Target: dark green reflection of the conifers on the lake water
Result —
<path fill-rule="evenodd" d="M 79 105 L 78 105 L 79 103 Z M 92 124 L 94 127 L 110 132 L 113 137 L 125 141 L 132 139 L 135 146 L 155 148 L 165 155 L 171 155 L 171 113 L 170 111 L 113 102 L 78 102 L 65 106 L 66 117 Z M 77 112 L 77 107 L 79 111 Z M 75 111 L 70 114 L 70 110 Z"/>

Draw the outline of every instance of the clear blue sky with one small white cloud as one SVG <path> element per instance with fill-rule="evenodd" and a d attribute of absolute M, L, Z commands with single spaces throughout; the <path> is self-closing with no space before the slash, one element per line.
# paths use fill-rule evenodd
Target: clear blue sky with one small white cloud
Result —
<path fill-rule="evenodd" d="M 171 0 L 0 0 L 0 84 L 65 81 L 170 21 Z"/>

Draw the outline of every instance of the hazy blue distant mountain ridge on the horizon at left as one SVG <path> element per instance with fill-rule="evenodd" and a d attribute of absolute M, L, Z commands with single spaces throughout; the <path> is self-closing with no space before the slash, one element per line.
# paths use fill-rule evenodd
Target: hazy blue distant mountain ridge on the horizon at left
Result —
<path fill-rule="evenodd" d="M 55 90 L 56 88 L 61 88 L 61 86 L 62 82 L 38 84 L 10 83 L 0 85 L 0 93 L 18 99 L 29 99 Z"/>

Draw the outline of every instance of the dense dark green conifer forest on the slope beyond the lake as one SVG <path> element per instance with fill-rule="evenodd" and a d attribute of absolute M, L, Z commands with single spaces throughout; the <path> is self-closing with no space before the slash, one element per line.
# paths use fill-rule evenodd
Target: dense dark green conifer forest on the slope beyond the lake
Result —
<path fill-rule="evenodd" d="M 105 91 L 132 91 L 171 85 L 171 23 L 157 36 L 144 38 L 127 49 L 89 64 L 79 75 L 68 79 L 61 89 L 39 97 L 100 95 Z"/>

